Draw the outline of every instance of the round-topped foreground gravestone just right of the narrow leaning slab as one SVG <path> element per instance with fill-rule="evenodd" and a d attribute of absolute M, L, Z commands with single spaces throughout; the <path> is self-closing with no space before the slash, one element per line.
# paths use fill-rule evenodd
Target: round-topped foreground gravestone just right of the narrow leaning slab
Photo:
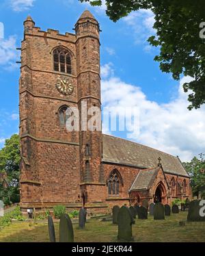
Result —
<path fill-rule="evenodd" d="M 74 242 L 72 222 L 68 214 L 61 214 L 59 222 L 59 242 Z"/>

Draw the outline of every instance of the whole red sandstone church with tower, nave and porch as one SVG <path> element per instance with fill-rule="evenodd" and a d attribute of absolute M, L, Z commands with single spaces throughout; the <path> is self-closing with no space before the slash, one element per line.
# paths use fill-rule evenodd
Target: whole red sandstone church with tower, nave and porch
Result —
<path fill-rule="evenodd" d="M 20 207 L 109 212 L 113 205 L 191 199 L 178 157 L 102 134 L 68 131 L 66 112 L 101 108 L 100 27 L 87 10 L 74 34 L 24 22 L 19 80 Z M 82 123 L 80 122 L 80 125 Z M 80 127 L 81 128 L 81 127 Z"/>

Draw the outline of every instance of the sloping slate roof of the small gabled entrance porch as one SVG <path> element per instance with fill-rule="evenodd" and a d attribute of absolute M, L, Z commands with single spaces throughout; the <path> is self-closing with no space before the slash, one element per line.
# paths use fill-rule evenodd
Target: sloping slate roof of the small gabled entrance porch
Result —
<path fill-rule="evenodd" d="M 159 172 L 161 167 L 150 168 L 146 170 L 140 170 L 133 185 L 131 185 L 131 190 L 149 190 L 154 182 L 154 179 Z"/>

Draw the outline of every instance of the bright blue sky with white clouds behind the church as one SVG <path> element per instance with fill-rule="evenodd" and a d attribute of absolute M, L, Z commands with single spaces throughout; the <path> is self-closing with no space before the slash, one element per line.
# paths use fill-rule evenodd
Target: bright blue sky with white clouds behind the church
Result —
<path fill-rule="evenodd" d="M 0 148 L 5 139 L 18 133 L 18 79 L 23 21 L 30 14 L 42 30 L 73 33 L 81 13 L 90 10 L 100 23 L 102 107 L 139 110 L 139 132 L 105 131 L 154 147 L 182 161 L 190 161 L 205 149 L 205 106 L 187 110 L 182 90 L 191 77 L 172 79 L 162 73 L 154 56 L 159 49 L 146 40 L 154 35 L 154 15 L 149 10 L 131 12 L 113 23 L 102 7 L 78 0 L 0 0 Z"/>

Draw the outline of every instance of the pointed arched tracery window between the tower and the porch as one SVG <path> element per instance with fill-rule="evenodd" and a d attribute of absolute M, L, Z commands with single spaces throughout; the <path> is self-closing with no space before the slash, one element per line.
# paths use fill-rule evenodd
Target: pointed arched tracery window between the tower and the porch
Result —
<path fill-rule="evenodd" d="M 120 194 L 120 185 L 122 185 L 122 177 L 118 170 L 112 170 L 107 180 L 108 194 Z"/>

